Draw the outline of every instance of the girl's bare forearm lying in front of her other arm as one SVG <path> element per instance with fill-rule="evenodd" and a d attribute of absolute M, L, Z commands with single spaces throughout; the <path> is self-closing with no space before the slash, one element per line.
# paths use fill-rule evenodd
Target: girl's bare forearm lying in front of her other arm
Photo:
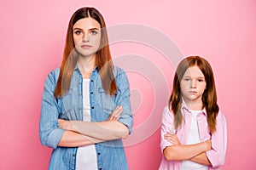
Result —
<path fill-rule="evenodd" d="M 167 146 L 164 150 L 164 155 L 168 161 L 184 161 L 190 160 L 210 149 L 211 145 L 208 142 L 201 142 L 199 144 L 177 144 Z"/>

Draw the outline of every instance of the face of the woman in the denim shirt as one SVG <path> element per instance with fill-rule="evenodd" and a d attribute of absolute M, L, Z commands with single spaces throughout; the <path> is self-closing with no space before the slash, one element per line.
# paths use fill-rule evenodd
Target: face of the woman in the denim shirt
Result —
<path fill-rule="evenodd" d="M 101 43 L 101 25 L 93 18 L 78 20 L 73 25 L 73 42 L 82 56 L 96 54 Z"/>

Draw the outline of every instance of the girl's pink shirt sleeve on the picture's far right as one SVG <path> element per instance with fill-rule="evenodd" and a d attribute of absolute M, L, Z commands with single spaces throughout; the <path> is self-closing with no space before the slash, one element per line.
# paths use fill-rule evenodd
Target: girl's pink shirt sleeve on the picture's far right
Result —
<path fill-rule="evenodd" d="M 207 157 L 212 167 L 224 165 L 227 149 L 227 123 L 224 115 L 219 111 L 216 132 L 212 133 L 212 150 L 207 151 Z"/>

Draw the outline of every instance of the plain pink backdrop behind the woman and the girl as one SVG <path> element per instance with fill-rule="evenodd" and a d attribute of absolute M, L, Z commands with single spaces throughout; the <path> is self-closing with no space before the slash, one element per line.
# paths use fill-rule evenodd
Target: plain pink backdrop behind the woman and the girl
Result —
<path fill-rule="evenodd" d="M 83 6 L 98 8 L 107 26 L 152 26 L 172 38 L 184 55 L 200 54 L 208 59 L 215 73 L 218 104 L 228 122 L 223 169 L 256 166 L 253 0 L 5 0 L 0 2 L 0 169 L 47 169 L 51 150 L 42 146 L 38 138 L 44 80 L 49 71 L 61 64 L 67 22 Z M 113 58 L 123 53 L 143 54 L 160 65 L 171 89 L 172 66 L 162 65 L 156 58 L 162 57 L 160 54 L 148 54 L 145 47 L 137 52 L 138 48 L 131 48 L 133 45 L 113 46 Z M 136 74 L 128 76 L 131 88 L 148 83 L 138 83 Z M 135 127 L 143 125 L 150 116 L 148 108 L 154 104 L 152 88 L 143 90 L 142 105 L 134 116 Z M 130 169 L 157 169 L 161 159 L 159 143 L 160 131 L 156 129 L 148 139 L 125 147 Z"/>

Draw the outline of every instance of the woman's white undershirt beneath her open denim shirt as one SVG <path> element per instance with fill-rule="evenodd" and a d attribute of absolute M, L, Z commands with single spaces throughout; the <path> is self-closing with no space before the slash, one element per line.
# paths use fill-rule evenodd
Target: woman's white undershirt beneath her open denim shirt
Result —
<path fill-rule="evenodd" d="M 83 121 L 90 122 L 90 79 L 83 79 Z M 78 148 L 76 170 L 96 170 L 97 157 L 95 144 Z"/>

